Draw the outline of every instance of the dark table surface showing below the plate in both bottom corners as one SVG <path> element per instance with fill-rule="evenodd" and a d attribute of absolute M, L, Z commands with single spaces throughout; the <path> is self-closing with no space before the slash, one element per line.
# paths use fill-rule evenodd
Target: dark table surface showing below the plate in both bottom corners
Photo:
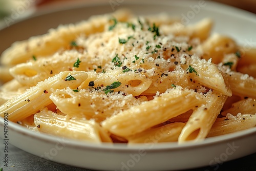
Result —
<path fill-rule="evenodd" d="M 4 152 L 5 145 L 3 139 L 0 139 L 0 152 Z M 3 171 L 7 170 L 19 170 L 19 171 L 43 171 L 43 170 L 62 170 L 62 171 L 72 171 L 72 170 L 77 170 L 77 171 L 92 171 L 90 169 L 85 169 L 85 168 L 78 168 L 78 167 L 73 167 L 65 164 L 59 164 L 56 162 L 52 162 L 37 156 L 34 156 L 32 154 L 29 154 L 22 149 L 19 149 L 11 144 L 8 144 L 8 167 L 2 166 L 3 165 L 3 153 L 0 154 L 0 169 L 3 167 Z M 229 162 L 225 162 L 223 164 L 219 165 L 219 168 L 217 169 L 216 167 L 201 167 L 201 168 L 194 168 L 194 169 L 189 169 L 186 171 L 211 171 L 211 170 L 218 170 L 218 171 L 223 171 L 223 170 L 232 170 L 232 171 L 250 171 L 250 170 L 256 170 L 256 153 L 245 156 L 243 158 L 237 159 L 237 160 L 232 160 Z"/>

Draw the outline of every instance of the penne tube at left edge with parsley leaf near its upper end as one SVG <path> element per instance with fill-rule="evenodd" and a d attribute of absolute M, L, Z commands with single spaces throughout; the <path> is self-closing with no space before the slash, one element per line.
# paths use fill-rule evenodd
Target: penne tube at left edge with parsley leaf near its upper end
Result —
<path fill-rule="evenodd" d="M 72 76 L 75 80 L 69 79 Z M 72 78 L 71 77 L 71 78 Z M 8 114 L 8 119 L 16 122 L 23 120 L 26 117 L 35 114 L 42 107 L 52 103 L 50 100 L 51 88 L 67 88 L 76 89 L 80 84 L 86 80 L 88 74 L 86 72 L 65 71 L 45 81 L 39 82 L 35 87 L 30 88 L 27 92 L 19 95 L 0 106 L 0 116 Z"/>

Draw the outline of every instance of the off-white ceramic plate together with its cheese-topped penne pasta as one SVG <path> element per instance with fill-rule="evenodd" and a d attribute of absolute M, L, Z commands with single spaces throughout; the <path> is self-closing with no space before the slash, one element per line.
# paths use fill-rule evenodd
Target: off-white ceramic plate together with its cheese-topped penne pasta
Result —
<path fill-rule="evenodd" d="M 254 18 L 207 1 L 110 1 L 0 30 L 50 29 L 30 28 L 2 52 L 0 136 L 100 170 L 215 167 L 255 153 Z"/>

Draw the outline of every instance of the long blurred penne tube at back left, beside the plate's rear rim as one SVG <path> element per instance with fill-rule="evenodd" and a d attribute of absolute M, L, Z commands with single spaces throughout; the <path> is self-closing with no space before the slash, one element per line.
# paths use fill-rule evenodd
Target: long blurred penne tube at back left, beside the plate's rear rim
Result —
<path fill-rule="evenodd" d="M 56 30 L 49 30 L 49 33 L 45 35 L 15 42 L 9 49 L 4 51 L 0 58 L 1 63 L 10 66 L 26 62 L 32 59 L 33 55 L 37 58 L 52 55 L 61 48 L 69 46 L 70 42 L 81 34 L 90 35 L 104 31 L 105 25 L 109 24 L 112 17 L 125 21 L 130 15 L 127 10 L 119 10 L 112 14 L 91 17 L 88 21 L 83 21 L 76 25 L 59 26 Z"/>

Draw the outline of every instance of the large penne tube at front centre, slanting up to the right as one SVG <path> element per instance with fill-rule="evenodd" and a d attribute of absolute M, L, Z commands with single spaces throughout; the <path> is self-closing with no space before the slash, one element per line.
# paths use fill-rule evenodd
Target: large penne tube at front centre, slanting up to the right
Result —
<path fill-rule="evenodd" d="M 176 88 L 151 101 L 122 111 L 102 122 L 112 134 L 126 137 L 176 117 L 204 102 L 204 97 L 187 89 Z M 180 103 L 185 103 L 182 108 Z"/>

